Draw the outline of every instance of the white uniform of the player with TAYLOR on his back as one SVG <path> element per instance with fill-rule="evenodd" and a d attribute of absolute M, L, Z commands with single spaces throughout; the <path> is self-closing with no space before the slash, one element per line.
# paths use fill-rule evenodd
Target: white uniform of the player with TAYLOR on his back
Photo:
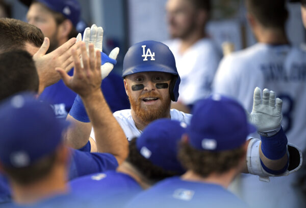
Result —
<path fill-rule="evenodd" d="M 221 60 L 214 93 L 236 98 L 251 112 L 256 86 L 275 91 L 283 100 L 282 125 L 288 142 L 305 150 L 306 53 L 290 45 L 257 43 Z M 270 178 L 270 183 L 243 176 L 239 192 L 254 207 L 302 207 L 301 198 L 290 186 L 294 175 Z"/>

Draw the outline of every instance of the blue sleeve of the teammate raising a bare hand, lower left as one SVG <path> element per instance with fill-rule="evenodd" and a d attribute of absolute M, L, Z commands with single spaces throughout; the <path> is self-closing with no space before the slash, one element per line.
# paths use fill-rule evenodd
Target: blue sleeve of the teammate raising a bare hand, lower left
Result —
<path fill-rule="evenodd" d="M 117 159 L 109 153 L 90 153 L 73 150 L 68 179 L 77 178 L 91 173 L 99 173 L 107 170 L 116 170 Z"/>

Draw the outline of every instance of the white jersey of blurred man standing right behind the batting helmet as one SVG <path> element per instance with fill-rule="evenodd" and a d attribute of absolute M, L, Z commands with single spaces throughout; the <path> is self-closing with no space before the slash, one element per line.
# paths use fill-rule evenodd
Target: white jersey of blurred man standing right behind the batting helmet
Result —
<path fill-rule="evenodd" d="M 211 94 L 211 84 L 217 70 L 220 53 L 211 39 L 203 38 L 184 54 L 179 39 L 164 42 L 174 55 L 177 72 L 181 77 L 179 102 L 194 104 Z"/>

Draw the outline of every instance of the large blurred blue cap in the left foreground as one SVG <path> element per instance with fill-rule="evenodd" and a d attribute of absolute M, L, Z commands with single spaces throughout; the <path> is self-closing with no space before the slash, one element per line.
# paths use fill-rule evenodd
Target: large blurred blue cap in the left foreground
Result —
<path fill-rule="evenodd" d="M 69 123 L 56 119 L 50 105 L 33 94 L 12 96 L 0 105 L 0 161 L 4 166 L 27 167 L 54 152 Z"/>

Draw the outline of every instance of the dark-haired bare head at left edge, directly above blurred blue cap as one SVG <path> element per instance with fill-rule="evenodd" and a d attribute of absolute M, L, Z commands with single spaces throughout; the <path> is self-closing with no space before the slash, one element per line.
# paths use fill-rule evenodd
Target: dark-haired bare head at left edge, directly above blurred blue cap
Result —
<path fill-rule="evenodd" d="M 39 78 L 32 56 L 22 50 L 0 54 L 0 100 L 21 91 L 37 93 Z"/>

